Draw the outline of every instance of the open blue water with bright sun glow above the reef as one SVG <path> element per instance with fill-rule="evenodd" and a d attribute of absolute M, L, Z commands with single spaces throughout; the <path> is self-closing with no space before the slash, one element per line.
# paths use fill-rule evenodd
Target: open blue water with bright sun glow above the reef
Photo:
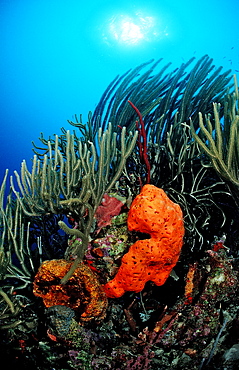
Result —
<path fill-rule="evenodd" d="M 109 82 L 151 58 L 209 54 L 239 70 L 238 0 L 0 0 L 0 181 L 40 132 L 94 110 Z"/>

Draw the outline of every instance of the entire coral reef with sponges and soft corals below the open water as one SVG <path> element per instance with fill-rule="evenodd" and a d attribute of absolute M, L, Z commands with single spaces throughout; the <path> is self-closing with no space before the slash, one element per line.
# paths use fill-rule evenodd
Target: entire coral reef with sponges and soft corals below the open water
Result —
<path fill-rule="evenodd" d="M 42 135 L 9 190 L 6 170 L 9 368 L 239 367 L 237 80 L 207 55 L 160 63 L 116 77 L 73 133 Z"/>

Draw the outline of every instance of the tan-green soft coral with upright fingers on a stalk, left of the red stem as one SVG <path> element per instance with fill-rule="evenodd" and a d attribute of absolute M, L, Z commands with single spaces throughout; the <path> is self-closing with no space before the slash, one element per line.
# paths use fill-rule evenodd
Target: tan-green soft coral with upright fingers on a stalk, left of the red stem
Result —
<path fill-rule="evenodd" d="M 98 130 L 95 144 L 83 141 L 66 133 L 66 142 L 61 143 L 59 137 L 55 141 L 47 141 L 42 160 L 34 156 L 32 171 L 29 172 L 26 162 L 22 162 L 21 176 L 15 171 L 20 193 L 15 189 L 13 178 L 11 185 L 28 216 L 42 213 L 73 213 L 75 231 L 82 239 L 82 250 L 69 274 L 62 282 L 66 283 L 78 262 L 86 251 L 94 214 L 101 203 L 102 197 L 115 185 L 122 174 L 126 160 L 132 153 L 138 133 L 131 132 L 126 136 L 126 128 L 121 131 L 121 147 L 116 148 L 116 133 L 112 132 L 111 124 L 102 132 Z M 44 140 L 42 140 L 44 142 Z M 60 226 L 69 234 L 69 228 L 62 221 Z"/>

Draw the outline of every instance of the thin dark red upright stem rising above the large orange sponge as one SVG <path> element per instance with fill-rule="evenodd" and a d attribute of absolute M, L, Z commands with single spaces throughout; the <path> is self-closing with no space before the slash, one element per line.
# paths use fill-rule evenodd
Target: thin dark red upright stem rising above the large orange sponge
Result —
<path fill-rule="evenodd" d="M 140 124 L 139 124 L 138 121 L 136 121 L 136 128 L 139 132 L 139 139 L 138 139 L 139 156 L 140 156 L 141 162 L 144 163 L 145 166 L 146 166 L 146 173 L 147 173 L 146 174 L 146 184 L 149 184 L 150 183 L 150 169 L 151 169 L 151 166 L 150 166 L 149 159 L 148 159 L 147 135 L 146 135 L 146 131 L 145 131 L 145 125 L 144 125 L 143 117 L 142 117 L 142 114 L 140 113 L 140 111 L 138 110 L 138 108 L 130 100 L 128 100 L 128 102 L 131 105 L 131 107 L 135 110 L 137 115 L 139 116 Z"/>

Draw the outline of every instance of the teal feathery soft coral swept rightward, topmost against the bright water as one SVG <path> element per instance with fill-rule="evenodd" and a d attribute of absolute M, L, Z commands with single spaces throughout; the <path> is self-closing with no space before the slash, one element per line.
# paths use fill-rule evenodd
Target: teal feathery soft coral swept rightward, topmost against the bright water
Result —
<path fill-rule="evenodd" d="M 195 62 L 191 58 L 179 68 L 168 72 L 171 63 L 161 66 L 162 59 L 143 63 L 117 76 L 103 93 L 93 115 L 89 116 L 91 130 L 87 131 L 92 140 L 99 127 L 103 130 L 111 122 L 115 131 L 126 126 L 135 130 L 137 113 L 128 104 L 132 101 L 144 118 L 148 141 L 164 145 L 167 132 L 175 126 L 175 113 L 178 122 L 186 122 L 192 117 L 194 126 L 198 127 L 198 112 L 211 112 L 212 102 L 223 103 L 223 98 L 231 80 L 231 71 L 222 73 L 222 67 L 216 68 L 213 60 L 204 55 Z M 193 65 L 194 63 L 194 65 Z M 188 70 L 189 66 L 191 70 Z M 148 69 L 145 70 L 145 68 Z M 155 74 L 153 74 L 155 73 Z M 84 128 L 81 120 L 69 121 L 80 130 Z M 177 127 L 181 132 L 180 126 Z M 175 151 L 181 149 L 180 136 Z"/>

